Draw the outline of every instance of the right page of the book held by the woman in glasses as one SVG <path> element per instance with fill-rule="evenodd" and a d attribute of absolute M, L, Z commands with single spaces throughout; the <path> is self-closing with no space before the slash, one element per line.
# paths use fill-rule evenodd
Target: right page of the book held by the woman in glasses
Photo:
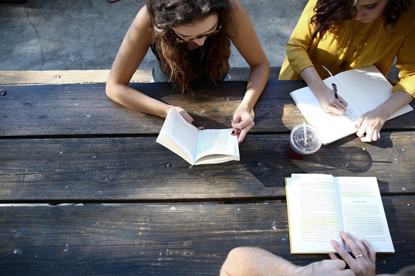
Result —
<path fill-rule="evenodd" d="M 235 148 L 235 145 L 237 146 L 238 144 L 237 136 L 231 135 L 231 132 L 232 128 L 200 130 L 195 160 L 207 155 L 236 155 L 237 148 Z"/>

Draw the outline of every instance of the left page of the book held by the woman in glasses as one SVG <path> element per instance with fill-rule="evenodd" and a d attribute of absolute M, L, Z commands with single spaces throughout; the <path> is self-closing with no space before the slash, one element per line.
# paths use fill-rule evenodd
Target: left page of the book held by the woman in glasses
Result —
<path fill-rule="evenodd" d="M 189 124 L 176 109 L 170 108 L 156 141 L 194 164 L 198 135 L 196 126 Z"/>

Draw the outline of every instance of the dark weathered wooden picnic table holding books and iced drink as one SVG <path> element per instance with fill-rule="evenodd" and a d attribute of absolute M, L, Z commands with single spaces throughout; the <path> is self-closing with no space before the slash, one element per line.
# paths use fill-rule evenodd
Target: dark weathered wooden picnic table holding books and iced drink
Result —
<path fill-rule="evenodd" d="M 183 106 L 196 125 L 228 128 L 246 81 L 194 97 L 131 86 Z M 289 132 L 304 117 L 288 92 L 303 86 L 268 81 L 241 161 L 202 166 L 157 144 L 164 120 L 114 103 L 104 83 L 1 86 L 0 274 L 219 275 L 237 246 L 298 265 L 328 259 L 290 254 L 291 173 L 377 177 L 396 250 L 377 256 L 377 272 L 414 264 L 415 112 L 387 121 L 380 141 L 351 135 L 293 160 Z"/>

